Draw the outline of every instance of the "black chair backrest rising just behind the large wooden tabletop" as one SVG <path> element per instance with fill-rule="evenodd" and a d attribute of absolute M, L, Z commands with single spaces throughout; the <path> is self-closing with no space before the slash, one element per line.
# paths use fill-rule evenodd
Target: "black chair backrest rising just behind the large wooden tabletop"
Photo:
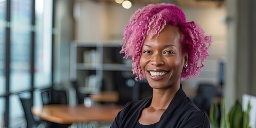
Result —
<path fill-rule="evenodd" d="M 46 90 L 41 92 L 43 105 L 63 104 L 67 105 L 67 94 L 61 90 Z"/>

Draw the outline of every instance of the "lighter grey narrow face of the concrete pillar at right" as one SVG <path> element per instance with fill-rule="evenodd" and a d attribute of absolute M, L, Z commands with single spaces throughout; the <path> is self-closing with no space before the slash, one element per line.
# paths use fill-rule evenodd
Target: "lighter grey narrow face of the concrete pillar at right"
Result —
<path fill-rule="evenodd" d="M 227 0 L 227 83 L 225 97 L 227 108 L 230 108 L 236 100 L 236 49 L 237 49 L 237 0 Z M 228 111 L 228 110 L 227 110 Z"/>

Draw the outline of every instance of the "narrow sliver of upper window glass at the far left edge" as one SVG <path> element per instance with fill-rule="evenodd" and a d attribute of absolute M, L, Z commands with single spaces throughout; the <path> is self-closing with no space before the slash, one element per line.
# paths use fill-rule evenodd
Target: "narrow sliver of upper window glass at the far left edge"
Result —
<path fill-rule="evenodd" d="M 5 77 L 4 77 L 5 13 L 6 13 L 6 1 L 0 1 L 0 94 L 3 94 L 5 92 Z"/>

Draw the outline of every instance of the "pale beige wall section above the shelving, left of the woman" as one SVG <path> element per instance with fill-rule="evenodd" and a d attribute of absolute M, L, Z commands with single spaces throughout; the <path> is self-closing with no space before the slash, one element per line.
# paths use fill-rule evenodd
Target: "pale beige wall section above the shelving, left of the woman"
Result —
<path fill-rule="evenodd" d="M 74 4 L 75 39 L 81 41 L 102 39 L 100 21 L 105 20 L 101 18 L 104 5 L 91 1 Z"/>

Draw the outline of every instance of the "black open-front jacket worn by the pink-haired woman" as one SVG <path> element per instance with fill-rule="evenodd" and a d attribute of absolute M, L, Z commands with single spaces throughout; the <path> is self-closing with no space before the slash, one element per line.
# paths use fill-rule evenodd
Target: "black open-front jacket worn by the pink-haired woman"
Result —
<path fill-rule="evenodd" d="M 120 111 L 111 125 L 111 128 L 132 128 L 138 122 L 141 111 L 147 108 L 152 101 L 152 97 L 144 100 L 129 102 L 124 109 Z M 187 97 L 182 90 L 182 86 L 175 94 L 170 105 L 164 111 L 157 128 L 164 127 L 210 127 L 209 118 L 204 111 Z"/>

